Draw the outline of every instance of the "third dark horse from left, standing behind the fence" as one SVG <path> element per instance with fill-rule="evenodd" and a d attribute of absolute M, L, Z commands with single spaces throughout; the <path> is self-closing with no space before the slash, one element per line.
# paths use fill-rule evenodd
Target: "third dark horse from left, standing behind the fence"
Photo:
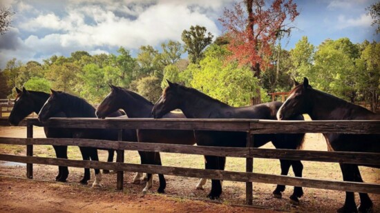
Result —
<path fill-rule="evenodd" d="M 153 103 L 146 100 L 140 94 L 126 90 L 124 88 L 117 87 L 115 85 L 109 85 L 111 92 L 104 98 L 102 103 L 97 107 L 96 115 L 99 119 L 104 119 L 108 114 L 115 112 L 116 110 L 122 109 L 126 112 L 129 118 L 152 118 L 152 108 Z M 185 118 L 182 113 L 168 113 L 165 115 L 168 118 Z M 150 143 L 171 143 L 171 144 L 182 144 L 182 145 L 194 145 L 196 139 L 194 138 L 193 131 L 186 130 L 137 130 L 137 138 L 139 142 L 150 142 Z M 154 164 L 162 165 L 160 153 L 147 153 L 139 152 L 142 157 L 141 161 L 144 164 Z M 133 182 L 140 181 L 139 177 L 141 174 L 137 174 Z M 158 192 L 163 193 L 166 185 L 164 176 L 160 176 L 160 187 Z M 202 189 L 205 185 L 207 179 L 200 179 L 197 189 Z M 152 177 L 148 174 L 148 182 L 143 192 L 149 190 L 152 187 Z"/>

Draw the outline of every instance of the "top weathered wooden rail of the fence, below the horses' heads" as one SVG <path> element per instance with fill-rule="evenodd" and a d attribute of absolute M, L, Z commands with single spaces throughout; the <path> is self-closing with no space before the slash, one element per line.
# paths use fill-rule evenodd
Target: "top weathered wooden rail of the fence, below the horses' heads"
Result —
<path fill-rule="evenodd" d="M 33 125 L 42 125 L 37 119 L 28 119 Z M 45 126 L 62 128 L 125 128 L 171 130 L 220 130 L 267 133 L 345 133 L 380 134 L 380 121 L 272 121 L 254 119 L 83 119 L 54 118 Z"/>

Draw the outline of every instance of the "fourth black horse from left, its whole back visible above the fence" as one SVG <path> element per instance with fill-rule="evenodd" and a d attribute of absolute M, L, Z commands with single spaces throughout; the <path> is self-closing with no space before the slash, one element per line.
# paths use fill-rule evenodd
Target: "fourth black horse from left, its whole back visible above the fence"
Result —
<path fill-rule="evenodd" d="M 280 102 L 263 103 L 259 105 L 234 108 L 226 103 L 213 99 L 198 90 L 187 88 L 177 83 L 168 81 L 169 86 L 164 90 L 160 99 L 155 103 L 153 116 L 161 118 L 163 114 L 171 110 L 180 109 L 187 118 L 191 119 L 276 119 L 276 112 L 281 107 Z M 294 117 L 303 120 L 303 116 Z M 258 148 L 269 141 L 279 149 L 298 149 L 303 143 L 305 134 L 255 134 L 254 147 Z M 245 132 L 220 132 L 220 131 L 196 131 L 198 145 L 245 147 Z M 210 170 L 224 170 L 225 157 L 205 156 L 205 167 Z M 280 160 L 281 174 L 287 175 L 292 165 L 294 174 L 302 176 L 303 165 L 301 161 Z M 273 194 L 281 197 L 285 185 L 277 185 Z M 219 180 L 212 180 L 210 199 L 216 199 L 222 193 Z M 302 187 L 294 187 L 290 201 L 298 203 L 298 198 L 303 195 Z"/>

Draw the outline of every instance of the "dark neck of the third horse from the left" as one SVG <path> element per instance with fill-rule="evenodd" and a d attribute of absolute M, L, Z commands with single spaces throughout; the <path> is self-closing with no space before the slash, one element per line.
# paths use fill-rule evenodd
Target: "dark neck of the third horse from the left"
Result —
<path fill-rule="evenodd" d="M 144 97 L 135 94 L 132 95 L 124 91 L 121 99 L 122 109 L 129 118 L 150 118 L 152 117 L 153 103 Z"/>

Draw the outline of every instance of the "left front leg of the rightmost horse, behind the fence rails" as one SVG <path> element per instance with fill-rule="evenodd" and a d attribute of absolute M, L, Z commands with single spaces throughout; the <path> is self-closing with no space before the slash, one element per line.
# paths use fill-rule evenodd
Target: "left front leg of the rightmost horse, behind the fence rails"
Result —
<path fill-rule="evenodd" d="M 343 174 L 343 181 L 355 181 L 354 177 L 354 168 L 357 165 L 350 165 L 339 163 L 341 166 L 341 171 Z M 357 205 L 355 203 L 355 195 L 354 192 L 345 192 L 345 202 L 343 207 L 336 210 L 336 212 L 357 212 Z"/>

